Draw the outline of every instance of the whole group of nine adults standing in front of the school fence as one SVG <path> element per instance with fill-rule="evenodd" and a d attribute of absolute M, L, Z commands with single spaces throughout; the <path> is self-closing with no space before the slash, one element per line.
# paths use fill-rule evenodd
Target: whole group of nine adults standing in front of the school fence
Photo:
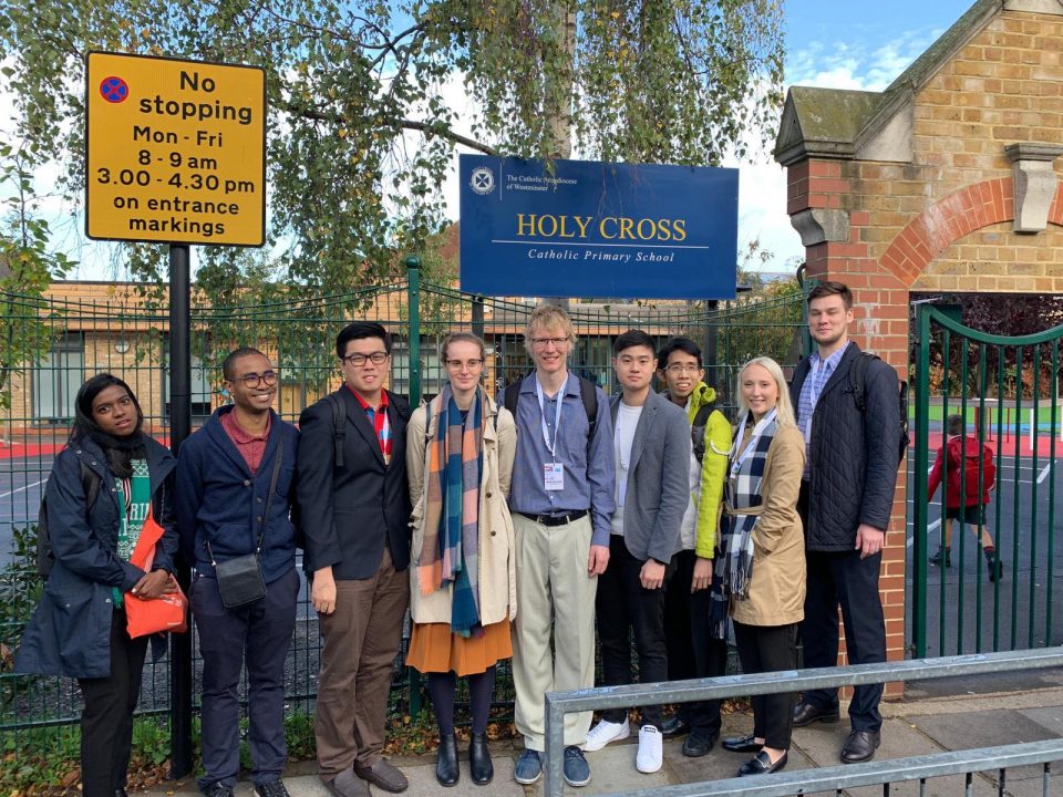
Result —
<path fill-rule="evenodd" d="M 281 770 L 285 661 L 296 620 L 296 549 L 305 550 L 322 639 L 314 735 L 320 778 L 336 797 L 369 785 L 399 793 L 406 778 L 382 755 L 386 701 L 405 612 L 406 663 L 426 675 L 440 731 L 436 778 L 461 778 L 454 733 L 458 677 L 468 682 L 469 777 L 488 784 L 486 739 L 495 667 L 513 659 L 518 783 L 541 775 L 546 692 L 603 683 L 722 675 L 733 627 L 745 672 L 807 666 L 838 655 L 838 608 L 850 663 L 886 659 L 878 571 L 899 427 L 897 376 L 877 359 L 857 406 L 848 371 L 864 356 L 848 339 L 848 288 L 808 297 L 817 350 L 787 387 L 767 358 L 739 376 L 736 424 L 715 410 L 690 340 L 660 352 L 639 330 L 619 335 L 621 387 L 607 397 L 568 370 L 567 313 L 540 306 L 525 343 L 529 375 L 489 395 L 484 342 L 442 345 L 447 381 L 411 413 L 384 387 L 391 337 L 357 321 L 337 338 L 344 384 L 303 411 L 298 429 L 274 411 L 278 374 L 255 349 L 224 363 L 231 404 L 180 447 L 175 462 L 142 432 L 136 397 L 110 374 L 76 398 L 70 445 L 47 487 L 55 567 L 27 628 L 21 671 L 79 679 L 83 790 L 123 797 L 132 713 L 146 655 L 125 631 L 121 598 L 176 589 L 178 548 L 195 568 L 190 604 L 203 655 L 200 789 L 229 797 L 239 772 L 238 685 L 246 669 L 256 797 L 287 797 Z M 654 376 L 667 390 L 652 390 Z M 90 501 L 83 469 L 101 479 Z M 151 572 L 128 562 L 138 519 L 163 526 Z M 219 565 L 254 555 L 264 594 L 233 605 Z M 224 584 L 223 584 L 224 586 Z M 880 686 L 860 686 L 842 760 L 879 744 Z M 753 701 L 752 733 L 723 747 L 753 756 L 739 775 L 786 765 L 792 728 L 839 720 L 837 693 Z M 662 765 L 662 739 L 706 755 L 720 706 L 705 701 L 665 720 L 640 711 L 636 766 Z M 590 780 L 585 752 L 630 735 L 625 710 L 565 718 L 564 776 Z"/>

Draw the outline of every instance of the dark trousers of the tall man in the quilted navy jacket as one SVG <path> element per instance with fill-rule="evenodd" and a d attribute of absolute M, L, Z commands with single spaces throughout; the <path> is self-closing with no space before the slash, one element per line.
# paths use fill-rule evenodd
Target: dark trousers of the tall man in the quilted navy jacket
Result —
<path fill-rule="evenodd" d="M 808 528 L 808 483 L 801 483 L 797 510 Z M 838 607 L 845 625 L 845 649 L 849 664 L 878 664 L 886 661 L 886 619 L 878 592 L 878 571 L 883 555 L 860 559 L 858 550 L 812 551 L 805 549 L 807 592 L 805 620 L 801 624 L 804 664 L 807 667 L 836 666 L 838 663 Z M 878 731 L 883 715 L 878 704 L 883 684 L 855 686 L 849 703 L 854 731 Z M 818 707 L 838 704 L 838 691 L 812 690 L 804 700 Z"/>

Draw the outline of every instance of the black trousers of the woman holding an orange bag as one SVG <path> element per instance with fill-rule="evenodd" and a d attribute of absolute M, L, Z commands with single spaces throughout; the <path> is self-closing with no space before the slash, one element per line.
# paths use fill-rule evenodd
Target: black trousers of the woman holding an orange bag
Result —
<path fill-rule="evenodd" d="M 79 679 L 85 707 L 81 712 L 81 782 L 83 797 L 114 797 L 125 788 L 133 749 L 133 712 L 141 696 L 147 636 L 130 639 L 125 612 L 111 614 L 111 674 Z"/>

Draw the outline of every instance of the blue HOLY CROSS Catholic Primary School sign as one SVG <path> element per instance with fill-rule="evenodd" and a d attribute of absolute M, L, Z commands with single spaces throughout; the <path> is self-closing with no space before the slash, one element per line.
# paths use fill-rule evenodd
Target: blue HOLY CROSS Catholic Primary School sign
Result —
<path fill-rule="evenodd" d="M 733 299 L 733 168 L 461 156 L 462 290 Z"/>

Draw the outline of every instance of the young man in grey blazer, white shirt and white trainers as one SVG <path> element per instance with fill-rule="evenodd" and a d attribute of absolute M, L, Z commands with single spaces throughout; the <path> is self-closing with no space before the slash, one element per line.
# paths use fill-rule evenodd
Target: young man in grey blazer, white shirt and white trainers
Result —
<path fill-rule="evenodd" d="M 639 680 L 668 680 L 664 581 L 681 547 L 680 526 L 690 500 L 690 427 L 687 414 L 650 389 L 657 371 L 653 339 L 641 330 L 617 338 L 612 366 L 623 394 L 610 404 L 617 465 L 609 567 L 598 578 L 598 639 L 607 686 L 631 683 L 629 629 L 634 632 Z M 642 706 L 636 766 L 661 768 L 661 706 Z M 627 711 L 610 710 L 587 735 L 586 751 L 630 735 Z"/>

